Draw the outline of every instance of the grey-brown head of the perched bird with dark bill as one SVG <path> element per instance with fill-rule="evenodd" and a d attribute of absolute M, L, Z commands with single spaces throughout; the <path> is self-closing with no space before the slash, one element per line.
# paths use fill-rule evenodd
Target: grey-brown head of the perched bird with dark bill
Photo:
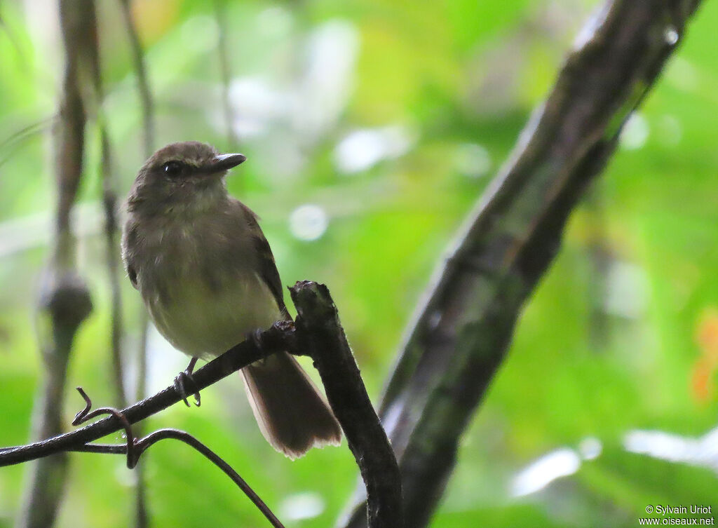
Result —
<path fill-rule="evenodd" d="M 227 171 L 245 159 L 243 154 L 219 154 L 206 143 L 169 144 L 142 165 L 128 208 L 137 213 L 178 215 L 213 208 L 227 196 Z"/>

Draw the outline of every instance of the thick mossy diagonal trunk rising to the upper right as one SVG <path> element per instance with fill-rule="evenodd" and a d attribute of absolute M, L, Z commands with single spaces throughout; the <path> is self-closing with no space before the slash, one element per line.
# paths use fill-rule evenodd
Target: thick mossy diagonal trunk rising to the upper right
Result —
<path fill-rule="evenodd" d="M 684 37 L 699 0 L 612 0 L 477 203 L 416 312 L 381 405 L 400 459 L 406 525 L 424 527 L 569 213 Z M 449 410 L 450 409 L 450 412 Z M 365 526 L 358 504 L 348 527 Z"/>

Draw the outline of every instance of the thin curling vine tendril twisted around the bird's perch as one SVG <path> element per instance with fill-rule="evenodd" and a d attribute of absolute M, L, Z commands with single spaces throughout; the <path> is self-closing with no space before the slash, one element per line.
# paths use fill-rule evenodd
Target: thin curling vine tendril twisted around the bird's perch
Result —
<path fill-rule="evenodd" d="M 197 438 L 190 435 L 190 433 L 177 429 L 160 429 L 151 432 L 149 435 L 142 438 L 141 440 L 136 440 L 132 431 L 132 426 L 120 411 L 111 407 L 100 407 L 90 412 L 90 409 L 92 408 L 92 401 L 90 400 L 90 397 L 85 394 L 85 391 L 82 389 L 82 387 L 78 387 L 77 389 L 80 393 L 80 396 L 85 399 L 85 408 L 75 415 L 73 425 L 80 425 L 81 423 L 91 420 L 92 418 L 97 417 L 100 414 L 111 414 L 113 417 L 116 417 L 116 419 L 121 422 L 125 430 L 127 443 L 122 445 L 86 444 L 80 448 L 73 449 L 73 451 L 125 454 L 127 455 L 127 467 L 133 469 L 137 466 L 137 463 L 139 463 L 139 458 L 141 457 L 142 453 L 148 450 L 151 445 L 154 445 L 159 442 L 159 440 L 167 440 L 172 438 L 174 438 L 174 440 L 180 440 L 202 453 L 205 458 L 210 460 L 210 462 L 220 468 L 225 473 L 225 475 L 231 478 L 232 481 L 236 483 L 236 485 L 244 492 L 244 494 L 246 494 L 249 500 L 252 501 L 252 503 L 257 507 L 257 509 L 261 511 L 262 514 L 264 514 L 264 517 L 266 517 L 266 519 L 271 522 L 272 526 L 274 526 L 275 528 L 284 528 L 284 525 L 279 522 L 279 519 L 277 519 L 274 513 L 272 513 L 271 509 L 269 509 L 269 506 L 267 506 L 264 501 L 262 501 L 262 499 L 256 494 L 256 492 L 251 488 L 251 486 L 246 483 L 246 481 L 239 475 L 239 473 L 237 473 L 232 468 L 232 466 L 226 463 L 225 460 L 220 457 L 220 455 L 218 455 L 206 445 L 201 443 L 200 440 L 197 440 Z"/>

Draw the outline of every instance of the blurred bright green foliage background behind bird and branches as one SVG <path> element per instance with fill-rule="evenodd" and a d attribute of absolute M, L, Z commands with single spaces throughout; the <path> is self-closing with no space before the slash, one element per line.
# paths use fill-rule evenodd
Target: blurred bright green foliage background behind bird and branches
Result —
<path fill-rule="evenodd" d="M 144 160 L 140 107 L 118 4 L 98 4 L 104 112 L 116 187 L 124 195 Z M 263 218 L 285 284 L 328 284 L 378 402 L 432 269 L 597 6 L 588 0 L 228 1 L 222 22 L 230 70 L 243 81 L 233 93 L 259 97 L 246 102 L 255 108 L 240 105 L 237 118 L 246 124 L 248 112 L 261 121 L 260 134 L 240 135 L 236 144 L 221 110 L 215 4 L 136 0 L 133 12 L 157 107 L 156 146 L 199 139 L 247 154 L 230 190 Z M 34 305 L 54 197 L 48 119 L 62 66 L 54 9 L 52 1 L 0 4 L 1 445 L 29 440 L 42 376 Z M 605 175 L 572 216 L 561 253 L 526 307 L 508 359 L 465 436 L 434 526 L 633 527 L 649 504 L 718 506 L 717 24 L 718 6 L 705 2 Z M 322 84 L 327 78 L 338 84 Z M 400 155 L 342 173 L 337 144 L 357 129 L 386 126 L 399 127 L 393 130 L 406 147 Z M 94 125 L 87 146 L 84 213 L 75 226 L 95 310 L 70 361 L 68 428 L 81 407 L 75 385 L 96 404 L 113 398 Z M 327 215 L 326 231 L 313 241 L 292 233 L 292 211 L 305 204 Z M 123 302 L 132 370 L 141 306 L 124 278 Z M 186 358 L 167 347 L 151 338 L 151 392 L 185 366 Z M 287 526 L 331 526 L 356 483 L 345 446 L 314 450 L 294 463 L 274 453 L 254 424 L 238 376 L 205 391 L 200 409 L 175 406 L 146 427 L 192 432 Z M 668 450 L 673 462 L 632 453 L 625 440 L 635 430 L 676 435 L 684 450 Z M 561 449 L 578 455 L 577 471 L 536 493 L 512 494 L 519 472 Z M 59 526 L 128 526 L 133 473 L 123 460 L 71 459 Z M 0 527 L 11 526 L 17 514 L 25 470 L 0 470 Z M 152 448 L 146 475 L 154 526 L 266 525 L 184 445 Z M 292 520 L 302 514 L 316 517 Z"/>

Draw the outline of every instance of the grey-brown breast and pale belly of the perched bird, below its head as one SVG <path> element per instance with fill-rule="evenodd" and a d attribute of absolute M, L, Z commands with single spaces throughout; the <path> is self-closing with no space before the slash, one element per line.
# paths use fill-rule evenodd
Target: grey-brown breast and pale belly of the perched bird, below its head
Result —
<path fill-rule="evenodd" d="M 159 330 L 190 356 L 217 356 L 281 319 L 251 249 L 215 230 L 165 230 L 146 240 L 140 291 Z"/>

